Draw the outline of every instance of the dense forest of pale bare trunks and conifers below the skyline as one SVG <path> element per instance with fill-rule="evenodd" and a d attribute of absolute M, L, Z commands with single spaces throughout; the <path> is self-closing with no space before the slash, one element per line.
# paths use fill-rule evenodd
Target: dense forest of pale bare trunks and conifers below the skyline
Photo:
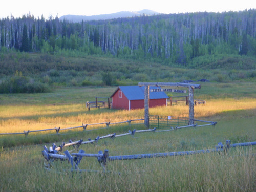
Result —
<path fill-rule="evenodd" d="M 51 15 L 2 18 L 0 51 L 111 54 L 187 65 L 218 53 L 256 56 L 256 10 L 181 13 L 72 23 Z"/>

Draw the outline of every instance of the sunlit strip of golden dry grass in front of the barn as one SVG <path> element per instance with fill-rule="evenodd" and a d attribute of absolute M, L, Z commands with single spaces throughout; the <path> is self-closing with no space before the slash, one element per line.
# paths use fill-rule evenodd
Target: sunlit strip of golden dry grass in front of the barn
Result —
<path fill-rule="evenodd" d="M 195 118 L 215 118 L 218 120 L 222 119 L 221 113 L 240 110 L 246 110 L 245 116 L 252 116 L 253 111 L 256 110 L 256 99 L 211 99 L 205 105 L 195 106 Z M 150 114 L 188 117 L 188 106 L 176 105 L 152 108 Z M 89 112 L 84 104 L 5 105 L 0 107 L 0 118 L 0 132 L 14 133 L 23 132 L 24 130 L 81 126 L 82 123 L 121 122 L 130 119 L 141 119 L 144 118 L 144 110 L 93 109 Z M 228 116 L 225 116 L 225 118 L 228 118 Z"/>

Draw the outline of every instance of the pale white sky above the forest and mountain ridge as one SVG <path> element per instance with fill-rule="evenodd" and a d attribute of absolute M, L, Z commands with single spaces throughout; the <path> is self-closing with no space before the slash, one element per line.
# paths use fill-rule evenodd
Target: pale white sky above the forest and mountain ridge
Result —
<path fill-rule="evenodd" d="M 159 13 L 223 12 L 256 9 L 255 0 L 5 0 L 0 6 L 0 18 L 21 17 L 29 12 L 36 18 L 44 15 L 98 15 L 119 11 L 150 9 Z"/>

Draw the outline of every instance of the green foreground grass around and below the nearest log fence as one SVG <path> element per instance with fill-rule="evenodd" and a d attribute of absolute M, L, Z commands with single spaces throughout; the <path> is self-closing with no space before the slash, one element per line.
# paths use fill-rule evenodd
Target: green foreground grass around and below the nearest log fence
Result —
<path fill-rule="evenodd" d="M 214 148 L 225 139 L 232 143 L 255 139 L 253 124 L 255 120 L 251 118 L 244 122 L 218 122 L 215 127 L 135 133 L 135 137 L 108 138 L 97 145 L 87 144 L 80 148 L 87 153 L 108 149 L 110 156 Z M 110 128 L 106 133 L 113 131 L 117 130 Z M 92 131 L 81 137 L 94 138 L 103 133 L 102 130 Z M 9 148 L 1 153 L 1 191 L 253 191 L 256 186 L 254 146 L 232 148 L 227 154 L 112 161 L 107 165 L 110 173 L 104 174 L 96 158 L 88 157 L 82 159 L 79 167 L 98 173 L 63 172 L 71 166 L 61 161 L 55 162 L 49 172 L 44 169 L 45 160 L 41 155 L 44 144 Z M 51 143 L 46 145 L 49 147 Z"/>

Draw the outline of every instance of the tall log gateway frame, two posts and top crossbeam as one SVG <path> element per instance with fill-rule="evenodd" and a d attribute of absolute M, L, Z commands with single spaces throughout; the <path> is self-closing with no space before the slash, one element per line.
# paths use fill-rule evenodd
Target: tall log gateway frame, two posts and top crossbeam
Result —
<path fill-rule="evenodd" d="M 148 128 L 150 126 L 150 110 L 149 110 L 149 102 L 150 102 L 150 94 L 149 87 L 150 86 L 170 86 L 170 87 L 185 87 L 188 88 L 188 104 L 189 104 L 189 125 L 194 124 L 194 89 L 200 89 L 200 84 L 190 84 L 190 83 L 175 83 L 175 82 L 139 82 L 139 86 L 145 86 L 144 92 L 144 124 Z"/>

